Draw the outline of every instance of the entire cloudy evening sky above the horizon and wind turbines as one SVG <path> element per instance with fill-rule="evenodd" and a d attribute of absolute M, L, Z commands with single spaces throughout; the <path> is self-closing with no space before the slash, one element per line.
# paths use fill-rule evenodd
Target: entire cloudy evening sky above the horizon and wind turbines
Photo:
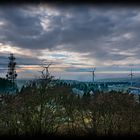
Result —
<path fill-rule="evenodd" d="M 0 6 L 0 76 L 8 56 L 18 78 L 35 78 L 43 64 L 56 78 L 92 80 L 140 74 L 140 7 L 112 5 Z"/>

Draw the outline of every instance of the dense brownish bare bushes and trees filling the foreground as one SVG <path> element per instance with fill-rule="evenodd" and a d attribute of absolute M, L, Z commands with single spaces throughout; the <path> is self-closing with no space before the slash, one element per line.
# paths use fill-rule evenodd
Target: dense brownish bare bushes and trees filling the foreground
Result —
<path fill-rule="evenodd" d="M 132 94 L 73 94 L 50 79 L 31 82 L 17 94 L 3 94 L 1 135 L 139 135 L 140 103 Z"/>

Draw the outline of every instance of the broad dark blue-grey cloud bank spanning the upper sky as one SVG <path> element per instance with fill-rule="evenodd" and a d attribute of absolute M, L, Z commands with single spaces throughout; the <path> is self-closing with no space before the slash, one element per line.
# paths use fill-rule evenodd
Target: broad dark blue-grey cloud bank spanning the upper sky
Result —
<path fill-rule="evenodd" d="M 139 9 L 105 6 L 53 8 L 58 14 L 49 15 L 51 9 L 47 11 L 45 6 L 43 10 L 26 6 L 1 7 L 0 21 L 4 25 L 0 27 L 0 41 L 32 50 L 47 48 L 89 53 L 87 57 L 99 61 L 140 58 Z M 48 30 L 43 28 L 42 19 L 49 20 Z M 114 53 L 115 48 L 118 50 Z M 120 54 L 126 51 L 126 54 Z"/>

